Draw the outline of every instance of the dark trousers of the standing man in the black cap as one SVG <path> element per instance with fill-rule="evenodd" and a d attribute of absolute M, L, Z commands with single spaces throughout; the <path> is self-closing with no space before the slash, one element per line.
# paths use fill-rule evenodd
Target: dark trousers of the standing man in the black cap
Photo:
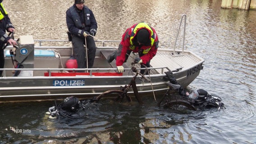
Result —
<path fill-rule="evenodd" d="M 86 58 L 86 49 L 84 45 L 87 47 L 87 58 Z M 85 38 L 79 36 L 72 36 L 72 46 L 73 46 L 73 57 L 76 58 L 78 63 L 78 68 L 87 68 L 87 59 L 88 59 L 88 68 L 91 68 L 94 63 L 95 53 L 96 53 L 96 45 L 93 37 Z M 82 72 L 82 71 L 81 71 Z"/>

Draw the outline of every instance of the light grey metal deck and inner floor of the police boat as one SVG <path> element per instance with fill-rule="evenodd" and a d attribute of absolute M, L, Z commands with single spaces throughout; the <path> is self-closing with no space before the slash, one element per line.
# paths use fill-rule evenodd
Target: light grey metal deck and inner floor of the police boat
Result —
<path fill-rule="evenodd" d="M 49 50 L 47 50 L 46 48 Z M 39 70 L 35 71 L 33 73 L 33 76 L 44 76 L 45 68 L 49 68 L 49 69 L 65 68 L 65 63 L 71 55 L 71 46 L 59 47 L 59 48 L 56 48 L 56 47 L 53 47 L 53 48 L 46 47 L 46 48 L 45 47 L 41 47 L 41 49 L 39 47 L 35 48 L 37 49 L 37 51 L 35 51 L 35 54 L 36 52 L 38 53 L 38 51 L 40 51 L 40 53 L 43 53 L 41 51 L 53 51 L 53 53 L 55 53 L 55 56 L 49 57 L 49 56 L 35 55 L 34 68 L 37 68 L 37 69 L 41 68 L 44 70 L 42 70 L 41 72 Z M 92 68 L 97 68 L 98 71 L 101 70 L 101 68 L 116 69 L 115 59 L 111 63 L 107 62 L 107 57 L 114 50 L 115 48 L 102 48 L 102 47 L 97 48 L 95 63 Z M 5 49 L 5 52 L 6 51 L 9 51 L 9 48 Z M 131 68 L 132 67 L 131 63 L 133 62 L 134 58 L 135 58 L 135 55 L 131 53 L 127 62 L 123 63 L 123 67 L 125 69 Z M 202 63 L 202 61 L 203 61 L 202 58 L 198 57 L 196 54 L 193 54 L 190 51 L 176 50 L 174 53 L 173 50 L 159 48 L 155 57 L 151 59 L 150 64 L 151 64 L 151 67 L 154 67 L 154 68 L 151 70 L 150 74 L 164 74 L 164 72 L 167 72 L 167 71 L 178 72 L 181 70 L 188 70 L 188 69 L 191 69 L 191 66 L 197 66 L 199 63 Z M 136 67 L 140 68 L 140 65 L 137 64 Z M 13 68 L 12 58 L 10 56 L 7 56 L 7 54 L 5 58 L 5 68 L 9 68 L 9 70 L 5 71 L 4 76 L 13 76 L 10 70 L 10 68 Z M 201 66 L 198 68 L 201 68 Z M 59 71 L 63 71 L 63 70 L 59 70 Z M 109 72 L 110 70 L 105 70 L 105 71 Z M 111 70 L 111 71 L 117 72 L 114 70 Z M 101 72 L 104 72 L 104 71 L 101 70 Z M 123 73 L 123 75 L 130 75 L 130 74 L 131 73 L 128 71 Z"/>

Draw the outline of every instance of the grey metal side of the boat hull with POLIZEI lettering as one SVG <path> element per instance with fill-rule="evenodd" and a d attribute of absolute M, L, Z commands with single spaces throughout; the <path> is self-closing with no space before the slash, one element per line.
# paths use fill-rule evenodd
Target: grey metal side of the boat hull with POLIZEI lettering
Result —
<path fill-rule="evenodd" d="M 192 76 L 178 79 L 178 83 L 186 87 L 198 75 L 197 71 Z M 181 72 L 179 75 L 187 75 Z M 163 94 L 167 90 L 164 74 L 150 76 L 151 82 L 137 80 L 140 95 Z M 175 76 L 175 75 L 174 75 Z M 178 77 L 178 75 L 176 76 Z M 52 77 L 23 77 L 1 80 L 0 102 L 49 100 L 74 95 L 79 98 L 92 98 L 107 90 L 119 90 L 120 86 L 127 85 L 132 76 L 52 76 Z M 5 82 L 3 82 L 5 81 Z M 84 84 L 81 84 L 84 81 Z M 129 95 L 133 96 L 133 90 Z"/>

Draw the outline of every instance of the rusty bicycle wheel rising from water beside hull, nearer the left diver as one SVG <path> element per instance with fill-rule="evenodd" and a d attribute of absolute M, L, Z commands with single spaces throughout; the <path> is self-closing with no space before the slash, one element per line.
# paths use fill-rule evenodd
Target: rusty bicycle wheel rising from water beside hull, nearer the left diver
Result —
<path fill-rule="evenodd" d="M 94 101 L 99 101 L 103 97 L 116 97 L 115 101 L 118 101 L 118 102 L 121 102 L 123 100 L 123 98 L 126 97 L 129 102 L 132 101 L 132 99 L 128 96 L 127 93 L 123 94 L 123 90 L 108 90 L 108 91 L 105 91 L 104 93 L 98 95 L 93 100 Z"/>

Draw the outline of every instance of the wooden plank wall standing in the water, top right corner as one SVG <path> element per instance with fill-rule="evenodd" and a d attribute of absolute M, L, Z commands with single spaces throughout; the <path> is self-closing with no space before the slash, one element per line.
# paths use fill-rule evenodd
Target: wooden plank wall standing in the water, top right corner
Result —
<path fill-rule="evenodd" d="M 222 0 L 221 8 L 224 9 L 244 9 L 248 10 L 250 8 L 251 1 L 253 0 Z"/>

